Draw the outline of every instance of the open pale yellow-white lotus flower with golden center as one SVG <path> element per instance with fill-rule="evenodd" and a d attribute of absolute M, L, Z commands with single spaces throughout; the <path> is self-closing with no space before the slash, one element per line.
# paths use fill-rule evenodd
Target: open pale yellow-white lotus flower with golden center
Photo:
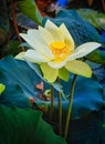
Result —
<path fill-rule="evenodd" d="M 74 40 L 64 23 L 56 27 L 50 20 L 46 21 L 44 28 L 39 25 L 38 30 L 31 29 L 28 30 L 27 34 L 20 33 L 20 35 L 32 49 L 20 53 L 17 58 L 24 58 L 30 62 L 40 63 L 43 75 L 49 81 L 53 76 L 54 79 L 51 81 L 54 81 L 57 75 L 62 78 L 62 75 L 65 75 L 66 70 L 91 78 L 92 70 L 90 66 L 76 59 L 91 53 L 101 47 L 99 43 L 87 42 L 75 49 Z"/>

